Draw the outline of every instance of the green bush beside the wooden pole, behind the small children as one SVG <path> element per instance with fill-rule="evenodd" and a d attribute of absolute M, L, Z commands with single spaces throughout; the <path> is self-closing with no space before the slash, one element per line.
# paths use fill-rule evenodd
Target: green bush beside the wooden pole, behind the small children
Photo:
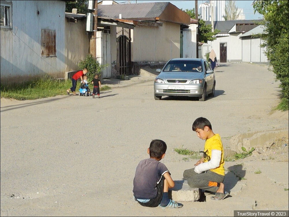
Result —
<path fill-rule="evenodd" d="M 96 58 L 91 54 L 88 54 L 84 60 L 79 61 L 78 67 L 80 69 L 87 68 L 88 73 L 86 73 L 88 80 L 93 80 L 95 74 L 99 75 L 99 79 L 102 77 L 101 70 L 107 67 L 107 65 L 100 65 Z"/>

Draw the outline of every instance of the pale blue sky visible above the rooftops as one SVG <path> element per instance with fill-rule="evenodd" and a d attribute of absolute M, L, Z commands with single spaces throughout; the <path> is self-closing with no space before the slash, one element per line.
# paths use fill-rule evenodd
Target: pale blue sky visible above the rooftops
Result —
<path fill-rule="evenodd" d="M 115 1 L 115 0 L 114 0 Z M 152 0 L 136 0 L 136 1 L 116 1 L 117 3 L 149 3 L 149 2 L 167 2 L 165 0 L 157 0 L 157 1 L 152 1 Z M 188 1 L 188 0 L 173 0 L 169 1 L 179 9 L 193 9 L 195 7 L 195 1 Z M 206 1 L 198 1 L 198 5 L 205 3 Z M 254 14 L 254 8 L 252 6 L 253 1 L 235 1 L 236 7 L 237 8 L 243 8 L 243 14 L 245 15 L 246 20 L 257 20 L 257 19 L 262 19 L 262 15 L 257 13 Z"/>

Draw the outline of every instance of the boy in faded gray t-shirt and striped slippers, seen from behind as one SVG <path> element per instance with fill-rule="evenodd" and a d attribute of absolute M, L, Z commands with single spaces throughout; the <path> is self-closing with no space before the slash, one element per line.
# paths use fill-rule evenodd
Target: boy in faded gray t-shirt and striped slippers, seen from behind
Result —
<path fill-rule="evenodd" d="M 145 207 L 180 208 L 183 205 L 168 197 L 168 189 L 175 186 L 168 168 L 160 162 L 166 153 L 166 143 L 151 141 L 147 153 L 150 158 L 140 161 L 134 176 L 134 198 Z"/>

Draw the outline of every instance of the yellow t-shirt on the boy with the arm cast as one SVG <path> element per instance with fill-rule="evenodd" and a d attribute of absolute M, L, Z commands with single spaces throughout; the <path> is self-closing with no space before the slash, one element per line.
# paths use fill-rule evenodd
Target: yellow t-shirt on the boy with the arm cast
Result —
<path fill-rule="evenodd" d="M 211 137 L 210 139 L 207 139 L 205 142 L 205 147 L 204 147 L 204 162 L 208 162 L 210 161 L 210 159 L 212 158 L 212 150 L 219 150 L 222 152 L 221 154 L 221 161 L 220 161 L 220 165 L 215 168 L 215 169 L 211 169 L 212 172 L 215 172 L 217 174 L 223 175 L 225 176 L 225 169 L 224 169 L 224 150 L 223 150 L 223 144 L 222 144 L 222 140 L 219 134 L 215 134 L 213 137 Z M 208 157 L 206 157 L 206 155 Z"/>

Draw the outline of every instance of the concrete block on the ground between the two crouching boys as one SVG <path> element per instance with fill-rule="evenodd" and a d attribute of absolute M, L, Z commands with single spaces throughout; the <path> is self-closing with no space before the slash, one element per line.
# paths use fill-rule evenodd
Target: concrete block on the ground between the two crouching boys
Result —
<path fill-rule="evenodd" d="M 198 201 L 201 197 L 201 189 L 192 188 L 186 180 L 174 181 L 175 187 L 169 190 L 169 196 L 174 201 Z"/>

